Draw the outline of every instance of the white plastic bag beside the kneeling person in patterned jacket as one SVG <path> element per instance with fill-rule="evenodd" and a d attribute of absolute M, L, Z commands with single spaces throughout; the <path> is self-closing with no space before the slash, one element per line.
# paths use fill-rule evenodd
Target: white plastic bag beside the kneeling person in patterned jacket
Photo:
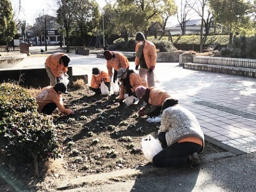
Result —
<path fill-rule="evenodd" d="M 142 139 L 141 145 L 142 151 L 150 163 L 152 163 L 153 157 L 163 149 L 160 141 L 155 139 L 151 134 Z"/>

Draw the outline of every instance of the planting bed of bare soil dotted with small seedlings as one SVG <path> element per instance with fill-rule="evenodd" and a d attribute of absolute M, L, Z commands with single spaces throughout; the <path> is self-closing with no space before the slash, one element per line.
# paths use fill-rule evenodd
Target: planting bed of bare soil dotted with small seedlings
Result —
<path fill-rule="evenodd" d="M 53 116 L 60 158 L 42 163 L 39 177 L 33 175 L 33 163 L 12 165 L 3 159 L 0 169 L 5 169 L 0 172 L 37 191 L 52 191 L 66 179 L 149 164 L 141 151 L 141 139 L 147 134 L 156 137 L 160 123 L 150 124 L 146 116 L 139 117 L 141 105 L 120 106 L 116 97 L 95 95 L 88 86 L 68 91 L 64 103 L 75 114 Z M 205 141 L 200 156 L 223 151 Z M 1 177 L 0 191 L 12 191 Z"/>

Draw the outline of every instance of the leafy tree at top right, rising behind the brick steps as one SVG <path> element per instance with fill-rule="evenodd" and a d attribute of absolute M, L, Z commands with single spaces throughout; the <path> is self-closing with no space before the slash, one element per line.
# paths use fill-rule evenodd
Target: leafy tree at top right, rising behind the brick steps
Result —
<path fill-rule="evenodd" d="M 228 28 L 229 43 L 232 43 L 233 33 L 240 23 L 238 19 L 247 17 L 250 3 L 244 0 L 211 0 L 209 3 L 215 21 Z"/>

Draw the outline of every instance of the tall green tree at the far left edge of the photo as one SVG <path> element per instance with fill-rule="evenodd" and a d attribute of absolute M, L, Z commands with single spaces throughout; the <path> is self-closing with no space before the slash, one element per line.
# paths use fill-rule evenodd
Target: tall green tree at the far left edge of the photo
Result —
<path fill-rule="evenodd" d="M 13 21 L 12 4 L 9 0 L 1 0 L 0 2 L 0 41 L 9 42 L 13 40 L 16 33 L 16 24 Z M 8 48 L 9 51 L 9 48 Z"/>

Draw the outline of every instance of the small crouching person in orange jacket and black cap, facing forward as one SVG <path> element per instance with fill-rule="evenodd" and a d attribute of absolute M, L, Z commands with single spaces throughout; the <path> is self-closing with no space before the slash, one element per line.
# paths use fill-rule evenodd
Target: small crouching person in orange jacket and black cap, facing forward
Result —
<path fill-rule="evenodd" d="M 110 78 L 105 71 L 99 70 L 99 68 L 92 68 L 91 90 L 96 94 L 101 94 L 100 86 L 101 82 L 109 88 L 110 91 Z"/>

